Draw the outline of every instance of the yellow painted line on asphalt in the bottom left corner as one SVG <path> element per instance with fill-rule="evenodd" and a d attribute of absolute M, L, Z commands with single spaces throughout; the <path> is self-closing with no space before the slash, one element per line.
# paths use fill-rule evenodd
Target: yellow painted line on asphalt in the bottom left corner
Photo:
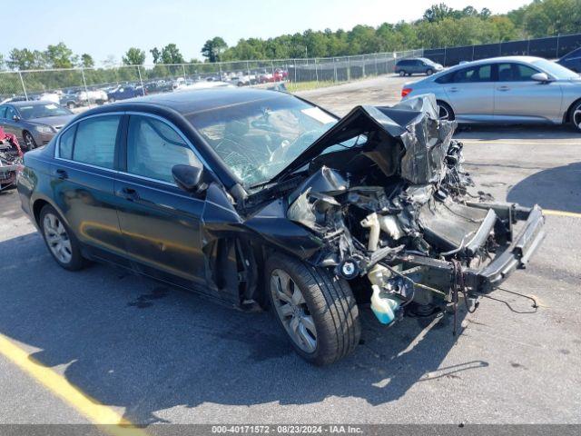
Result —
<path fill-rule="evenodd" d="M 21 370 L 44 385 L 49 391 L 62 398 L 89 421 L 113 436 L 144 436 L 147 432 L 136 428 L 133 422 L 126 420 L 112 408 L 94 400 L 63 375 L 54 372 L 36 361 L 28 352 L 20 348 L 0 333 L 0 353 L 15 363 Z"/>

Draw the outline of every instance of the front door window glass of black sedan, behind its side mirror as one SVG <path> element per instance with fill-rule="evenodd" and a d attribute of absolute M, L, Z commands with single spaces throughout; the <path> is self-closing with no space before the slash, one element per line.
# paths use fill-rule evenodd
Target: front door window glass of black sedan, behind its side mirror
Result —
<path fill-rule="evenodd" d="M 172 127 L 148 116 L 132 115 L 127 132 L 127 173 L 173 183 L 173 165 L 202 166 Z"/>

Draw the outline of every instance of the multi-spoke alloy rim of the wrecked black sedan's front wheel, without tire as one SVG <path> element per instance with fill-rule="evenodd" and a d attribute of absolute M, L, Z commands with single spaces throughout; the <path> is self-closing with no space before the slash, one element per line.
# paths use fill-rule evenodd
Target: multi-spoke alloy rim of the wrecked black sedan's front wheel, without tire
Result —
<path fill-rule="evenodd" d="M 317 348 L 317 330 L 307 302 L 291 276 L 280 269 L 271 272 L 271 295 L 277 315 L 292 342 L 304 352 Z"/>

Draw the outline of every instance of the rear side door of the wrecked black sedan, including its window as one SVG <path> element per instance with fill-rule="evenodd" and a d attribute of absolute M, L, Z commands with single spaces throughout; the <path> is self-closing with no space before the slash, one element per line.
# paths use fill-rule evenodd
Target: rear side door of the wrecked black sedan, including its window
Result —
<path fill-rule="evenodd" d="M 122 120 L 123 114 L 99 114 L 68 127 L 52 168 L 52 198 L 66 222 L 95 256 L 114 261 L 125 253 L 113 193 Z"/>

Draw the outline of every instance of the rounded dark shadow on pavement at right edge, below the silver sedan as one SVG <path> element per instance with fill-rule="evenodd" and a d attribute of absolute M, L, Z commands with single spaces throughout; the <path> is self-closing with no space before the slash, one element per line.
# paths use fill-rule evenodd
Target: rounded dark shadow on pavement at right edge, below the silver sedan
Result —
<path fill-rule="evenodd" d="M 581 163 L 569 163 L 528 176 L 508 191 L 507 201 L 581 213 Z"/>

